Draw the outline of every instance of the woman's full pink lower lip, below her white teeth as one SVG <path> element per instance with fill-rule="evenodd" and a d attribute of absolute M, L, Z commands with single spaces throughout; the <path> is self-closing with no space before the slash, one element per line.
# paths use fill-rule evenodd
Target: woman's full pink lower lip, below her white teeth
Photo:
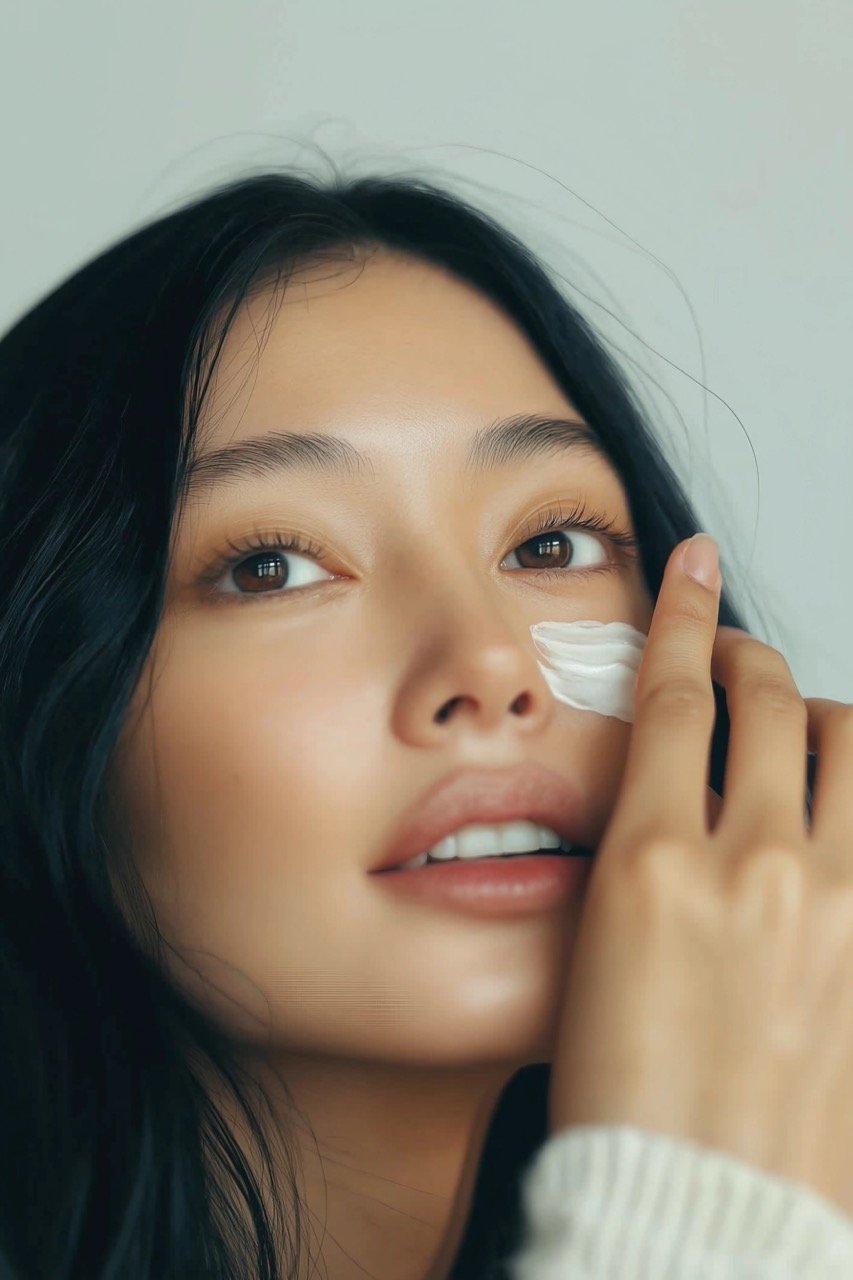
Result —
<path fill-rule="evenodd" d="M 530 854 L 529 858 L 428 863 L 374 872 L 392 893 L 434 906 L 512 919 L 565 902 L 589 879 L 594 859 Z"/>

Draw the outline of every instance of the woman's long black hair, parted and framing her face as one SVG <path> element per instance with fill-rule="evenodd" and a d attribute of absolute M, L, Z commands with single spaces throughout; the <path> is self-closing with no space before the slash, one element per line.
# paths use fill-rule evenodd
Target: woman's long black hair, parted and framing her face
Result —
<path fill-rule="evenodd" d="M 628 380 L 534 253 L 418 178 L 229 183 L 127 236 L 14 325 L 0 343 L 4 1277 L 302 1275 L 296 1183 L 273 1221 L 200 1064 L 268 1160 L 264 1098 L 252 1102 L 224 1036 L 122 910 L 110 763 L 158 631 L 195 430 L 238 307 L 300 264 L 383 246 L 455 273 L 526 332 L 622 477 L 652 598 L 674 545 L 701 527 Z M 727 586 L 720 621 L 744 626 Z M 717 686 L 715 698 L 708 783 L 721 794 L 729 718 Z M 503 1276 L 519 1179 L 547 1135 L 548 1073 L 528 1066 L 501 1096 L 457 1280 Z"/>

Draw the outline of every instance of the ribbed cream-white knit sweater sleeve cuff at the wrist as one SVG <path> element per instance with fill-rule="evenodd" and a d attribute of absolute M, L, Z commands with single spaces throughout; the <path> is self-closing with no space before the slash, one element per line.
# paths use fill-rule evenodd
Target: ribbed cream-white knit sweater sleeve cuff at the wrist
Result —
<path fill-rule="evenodd" d="M 630 1125 L 551 1134 L 511 1280 L 850 1280 L 853 1219 L 804 1183 Z"/>

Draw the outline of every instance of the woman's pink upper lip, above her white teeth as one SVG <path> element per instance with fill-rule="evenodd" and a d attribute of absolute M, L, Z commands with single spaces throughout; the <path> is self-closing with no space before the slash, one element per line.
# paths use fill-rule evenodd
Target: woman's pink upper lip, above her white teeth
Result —
<path fill-rule="evenodd" d="M 461 769 L 406 810 L 370 872 L 398 867 L 467 823 L 520 819 L 551 827 L 574 845 L 593 847 L 592 814 L 569 778 L 535 763 L 510 769 Z"/>

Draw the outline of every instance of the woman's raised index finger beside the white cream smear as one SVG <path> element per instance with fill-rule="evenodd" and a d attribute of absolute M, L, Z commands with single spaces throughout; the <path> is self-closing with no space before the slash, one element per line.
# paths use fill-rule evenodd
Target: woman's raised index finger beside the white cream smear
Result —
<path fill-rule="evenodd" d="M 698 538 L 699 535 L 697 535 Z M 707 538 L 707 535 L 701 535 Z M 713 539 L 712 550 L 719 553 Z M 690 577 L 679 543 L 670 556 L 637 672 L 634 724 L 613 813 L 617 838 L 704 838 L 716 705 L 711 653 L 722 577 Z"/>

